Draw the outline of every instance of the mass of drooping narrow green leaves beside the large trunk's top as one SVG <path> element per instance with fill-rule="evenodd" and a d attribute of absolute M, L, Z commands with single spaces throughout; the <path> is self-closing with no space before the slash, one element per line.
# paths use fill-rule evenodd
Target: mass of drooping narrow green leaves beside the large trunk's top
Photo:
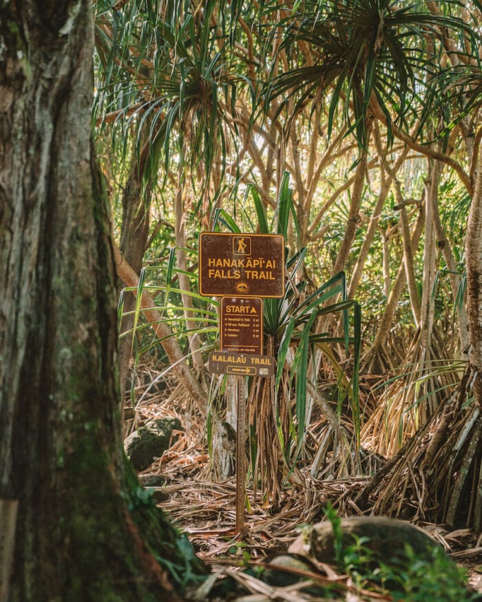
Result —
<path fill-rule="evenodd" d="M 138 0 L 119 11 L 98 4 L 94 114 L 101 126 L 106 115 L 118 117 L 113 135 L 125 151 L 131 125 L 138 152 L 147 129 L 144 175 L 151 182 L 161 163 L 166 178 L 171 162 L 180 161 L 191 174 L 201 171 L 206 184 L 215 158 L 223 165 L 227 158 L 224 117 L 236 78 L 218 27 L 225 30 L 223 8 L 214 0 L 202 9 L 189 0 Z"/>

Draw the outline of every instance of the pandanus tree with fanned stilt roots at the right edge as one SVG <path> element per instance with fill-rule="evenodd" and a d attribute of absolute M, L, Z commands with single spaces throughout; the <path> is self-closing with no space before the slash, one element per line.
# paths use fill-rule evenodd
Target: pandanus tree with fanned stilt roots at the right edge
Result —
<path fill-rule="evenodd" d="M 434 3 L 428 3 L 433 5 Z M 480 11 L 479 3 L 474 3 Z M 466 14 L 467 17 L 467 14 Z M 480 17 L 480 12 L 479 12 Z M 466 33 L 465 25 L 461 31 Z M 480 178 L 479 136 L 474 135 L 477 110 L 480 103 L 480 65 L 478 54 L 469 54 L 470 39 L 462 35 L 462 47 L 454 52 L 454 40 L 446 33 L 439 36 L 443 50 L 448 54 L 448 67 L 440 69 L 432 81 L 432 91 L 427 96 L 428 114 L 437 116 L 439 128 L 447 125 L 444 147 L 428 147 L 426 154 L 432 159 L 449 164 L 457 172 L 461 183 L 471 197 L 468 228 L 465 237 L 465 270 L 467 277 L 468 369 L 453 394 L 442 400 L 433 416 L 400 453 L 380 471 L 359 500 L 377 493 L 375 509 L 382 513 L 404 513 L 411 516 L 410 504 L 417 500 L 419 517 L 442 520 L 449 524 L 465 524 L 480 530 L 482 516 L 481 496 L 481 421 L 479 376 L 480 349 Z M 453 131 L 465 141 L 466 155 L 450 157 Z M 450 133 L 450 136 L 449 136 Z M 473 144 L 475 140 L 475 144 Z M 413 142 L 412 142 L 413 144 Z M 438 155 L 438 156 L 437 156 Z M 465 165 L 467 167 L 465 167 Z M 440 169 L 440 166 L 439 168 Z M 435 177 L 437 167 L 432 172 Z M 440 176 L 438 176 L 440 177 Z M 434 180 L 432 179 L 432 185 Z M 433 195 L 433 191 L 432 191 Z M 430 197 L 429 197 L 430 198 Z M 437 203 L 433 202 L 434 235 L 439 246 L 446 245 L 441 232 Z M 427 245 L 427 237 L 426 237 Z M 448 266 L 450 255 L 444 254 Z M 423 308 L 422 308 L 423 309 Z M 430 314 L 429 314 L 430 315 Z M 461 333 L 463 340 L 464 333 Z M 396 493 L 394 495 L 394 493 Z M 403 492 L 403 493 L 401 493 Z M 391 498 L 391 499 L 390 499 Z M 429 509 L 430 508 L 430 509 Z"/>

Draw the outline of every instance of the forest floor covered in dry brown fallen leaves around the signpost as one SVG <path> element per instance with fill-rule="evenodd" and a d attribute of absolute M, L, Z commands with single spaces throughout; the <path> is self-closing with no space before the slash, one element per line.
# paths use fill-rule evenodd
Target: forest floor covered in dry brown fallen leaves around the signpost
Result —
<path fill-rule="evenodd" d="M 139 401 L 130 431 L 151 418 L 178 418 L 182 424 L 182 431 L 174 432 L 171 446 L 162 457 L 139 473 L 140 480 L 146 482 L 153 476 L 163 478 L 163 484 L 153 488 L 158 506 L 187 533 L 196 554 L 215 570 L 222 570 L 223 566 L 230 570 L 236 564 L 259 563 L 285 552 L 305 524 L 324 519 L 323 509 L 328 502 L 337 508 L 340 516 L 362 515 L 353 499 L 370 476 L 317 480 L 311 477 L 307 466 L 297 471 L 277 504 L 264 501 L 266 497 L 263 500 L 261 492 L 253 493 L 248 485 L 244 528 L 236 534 L 235 477 L 221 482 L 213 479 L 205 418 L 199 416 L 196 407 L 175 383 L 171 388 L 160 390 L 151 386 L 149 374 L 140 380 L 142 383 L 136 390 Z M 147 387 L 145 383 L 148 383 Z M 482 593 L 482 535 L 463 528 L 450 530 L 443 525 L 423 522 L 417 522 L 417 526 L 468 570 L 470 585 Z M 324 566 L 323 569 L 328 572 L 328 579 L 343 583 L 349 590 L 346 575 L 337 574 L 333 567 Z M 269 597 L 269 592 L 264 591 L 262 585 L 258 588 L 256 581 L 243 585 L 253 596 L 264 594 Z M 297 599 L 293 595 L 291 589 L 286 600 Z M 346 599 L 349 598 L 347 594 Z M 356 599 L 354 596 L 353 600 Z M 390 597 L 375 596 L 373 599 L 388 600 Z"/>

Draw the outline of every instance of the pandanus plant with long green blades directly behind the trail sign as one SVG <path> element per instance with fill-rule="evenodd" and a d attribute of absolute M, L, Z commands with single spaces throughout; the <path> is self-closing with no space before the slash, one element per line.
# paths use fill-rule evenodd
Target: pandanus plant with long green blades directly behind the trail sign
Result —
<path fill-rule="evenodd" d="M 274 215 L 266 213 L 255 187 L 252 186 L 249 193 L 255 209 L 254 224 L 260 233 L 278 233 L 286 240 L 291 226 L 297 230 L 288 173 L 283 175 Z M 254 224 L 251 222 L 250 226 Z M 236 224 L 229 222 L 229 225 L 233 231 L 238 231 Z M 324 471 L 332 476 L 342 476 L 359 470 L 360 308 L 358 303 L 346 297 L 343 272 L 315 290 L 310 289 L 306 280 L 297 277 L 306 252 L 305 247 L 286 248 L 284 296 L 264 299 L 264 347 L 269 356 L 276 358 L 275 378 L 254 378 L 248 387 L 247 426 L 253 493 L 256 495 L 259 489 L 264 504 L 274 508 L 284 498 L 286 482 L 300 484 L 304 480 L 298 460 L 305 458 L 313 404 L 326 418 L 323 441 L 313 454 L 317 456 L 313 475 L 317 477 Z M 331 336 L 327 332 L 317 332 L 316 321 L 324 316 L 341 319 L 342 334 Z M 339 369 L 332 351 L 336 344 L 344 345 L 346 354 L 352 358 L 351 378 Z M 320 351 L 338 371 L 339 387 L 349 399 L 353 420 L 348 428 L 308 377 Z M 333 461 L 328 459 L 329 451 L 333 451 Z"/>

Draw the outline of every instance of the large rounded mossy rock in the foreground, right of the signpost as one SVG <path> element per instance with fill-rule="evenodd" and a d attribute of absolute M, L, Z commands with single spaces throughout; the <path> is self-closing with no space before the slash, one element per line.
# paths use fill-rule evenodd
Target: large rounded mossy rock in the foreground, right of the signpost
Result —
<path fill-rule="evenodd" d="M 406 561 L 406 546 L 410 546 L 419 559 L 431 561 L 434 549 L 441 548 L 423 530 L 409 522 L 388 517 L 348 517 L 340 519 L 342 548 L 353 546 L 355 541 L 363 541 L 363 547 L 370 550 L 370 559 L 397 565 Z M 293 541 L 289 552 L 315 558 L 319 562 L 335 563 L 336 553 L 331 522 L 308 526 Z M 443 552 L 445 553 L 445 552 Z M 447 555 L 450 563 L 450 557 Z"/>

